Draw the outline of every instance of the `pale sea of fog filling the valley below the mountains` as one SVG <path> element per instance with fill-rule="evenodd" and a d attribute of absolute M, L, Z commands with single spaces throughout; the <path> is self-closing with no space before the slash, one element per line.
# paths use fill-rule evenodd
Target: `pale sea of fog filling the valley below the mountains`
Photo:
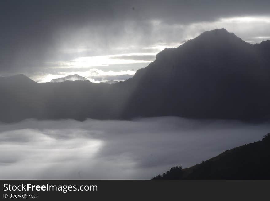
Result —
<path fill-rule="evenodd" d="M 0 179 L 151 179 L 269 132 L 269 123 L 178 117 L 0 123 Z"/>

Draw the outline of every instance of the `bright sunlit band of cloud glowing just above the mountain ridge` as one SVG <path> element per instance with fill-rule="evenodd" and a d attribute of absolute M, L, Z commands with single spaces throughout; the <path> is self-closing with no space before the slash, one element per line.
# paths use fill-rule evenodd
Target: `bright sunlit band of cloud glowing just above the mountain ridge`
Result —
<path fill-rule="evenodd" d="M 225 28 L 251 44 L 260 43 L 270 38 L 268 35 L 270 33 L 270 16 L 222 17 L 215 21 L 190 24 L 181 24 L 181 22 L 169 24 L 162 20 L 152 20 L 149 24 L 152 26 L 152 31 L 145 33 L 149 38 L 147 43 L 145 43 L 144 38 L 140 38 L 140 40 L 137 38 L 126 44 L 121 42 L 121 38 L 115 36 L 114 39 L 118 40 L 118 43 L 110 47 L 109 52 L 107 52 L 106 47 L 103 47 L 105 49 L 102 47 L 90 49 L 89 46 L 84 47 L 79 44 L 78 47 L 76 46 L 77 48 L 67 45 L 66 51 L 65 49 L 61 49 L 61 51 L 68 53 L 70 59 L 47 62 L 49 66 L 47 72 L 30 77 L 37 82 L 49 82 L 52 79 L 78 74 L 91 82 L 98 83 L 106 81 L 105 76 L 134 75 L 137 69 L 147 66 L 163 49 L 179 47 L 185 41 L 213 29 Z M 129 34 L 129 32 L 125 34 Z M 91 42 L 94 41 L 90 40 L 89 43 Z M 122 78 L 118 81 L 123 80 L 125 79 Z"/>

